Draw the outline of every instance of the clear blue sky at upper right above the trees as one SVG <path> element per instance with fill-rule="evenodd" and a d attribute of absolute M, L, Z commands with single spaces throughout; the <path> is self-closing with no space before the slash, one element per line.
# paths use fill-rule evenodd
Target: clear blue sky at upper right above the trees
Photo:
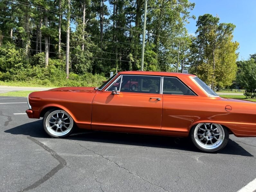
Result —
<path fill-rule="evenodd" d="M 198 16 L 203 14 L 216 14 L 220 23 L 233 23 L 234 41 L 240 43 L 239 60 L 248 59 L 250 54 L 256 53 L 256 0 L 190 0 L 195 8 L 190 12 L 196 20 L 190 19 L 186 25 L 188 33 L 195 34 Z"/>

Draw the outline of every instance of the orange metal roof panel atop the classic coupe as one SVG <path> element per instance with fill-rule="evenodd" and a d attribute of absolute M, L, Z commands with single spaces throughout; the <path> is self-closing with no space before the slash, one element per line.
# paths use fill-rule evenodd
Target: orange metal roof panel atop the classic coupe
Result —
<path fill-rule="evenodd" d="M 158 72 L 158 71 L 122 71 L 118 74 L 127 75 L 157 75 L 157 76 L 170 76 L 170 77 L 197 77 L 196 75 L 186 74 L 186 73 L 173 73 L 173 72 Z"/>

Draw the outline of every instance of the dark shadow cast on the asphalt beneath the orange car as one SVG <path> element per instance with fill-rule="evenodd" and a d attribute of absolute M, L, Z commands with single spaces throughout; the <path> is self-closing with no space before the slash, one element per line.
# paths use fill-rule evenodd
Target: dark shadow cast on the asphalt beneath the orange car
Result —
<path fill-rule="evenodd" d="M 36 138 L 49 138 L 42 127 L 42 120 L 26 123 L 9 130 L 5 133 L 15 135 L 28 135 Z M 75 133 L 65 138 L 77 141 L 91 141 L 101 143 L 115 143 L 123 145 L 136 145 L 144 147 L 156 147 L 166 149 L 177 149 L 183 151 L 198 151 L 188 138 L 175 138 L 158 135 L 143 135 L 133 133 L 113 133 L 113 132 L 92 132 L 77 129 Z M 253 157 L 251 153 L 243 149 L 238 143 L 229 140 L 227 146 L 217 152 L 219 154 L 241 155 Z"/>

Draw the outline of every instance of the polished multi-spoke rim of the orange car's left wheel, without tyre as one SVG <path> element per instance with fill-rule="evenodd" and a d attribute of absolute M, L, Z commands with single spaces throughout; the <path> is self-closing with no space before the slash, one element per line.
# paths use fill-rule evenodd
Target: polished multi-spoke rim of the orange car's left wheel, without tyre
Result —
<path fill-rule="evenodd" d="M 47 131 L 54 136 L 68 134 L 73 127 L 73 119 L 63 110 L 51 112 L 45 121 Z"/>

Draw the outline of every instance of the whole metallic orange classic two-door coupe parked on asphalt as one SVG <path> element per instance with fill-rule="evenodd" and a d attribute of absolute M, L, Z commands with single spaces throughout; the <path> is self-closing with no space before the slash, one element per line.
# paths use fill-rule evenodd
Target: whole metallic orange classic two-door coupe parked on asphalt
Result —
<path fill-rule="evenodd" d="M 44 130 L 55 138 L 76 125 L 190 137 L 201 151 L 214 152 L 226 146 L 229 134 L 256 136 L 256 103 L 219 97 L 195 75 L 182 73 L 119 72 L 101 87 L 33 92 L 28 105 L 28 117 L 43 117 Z"/>

